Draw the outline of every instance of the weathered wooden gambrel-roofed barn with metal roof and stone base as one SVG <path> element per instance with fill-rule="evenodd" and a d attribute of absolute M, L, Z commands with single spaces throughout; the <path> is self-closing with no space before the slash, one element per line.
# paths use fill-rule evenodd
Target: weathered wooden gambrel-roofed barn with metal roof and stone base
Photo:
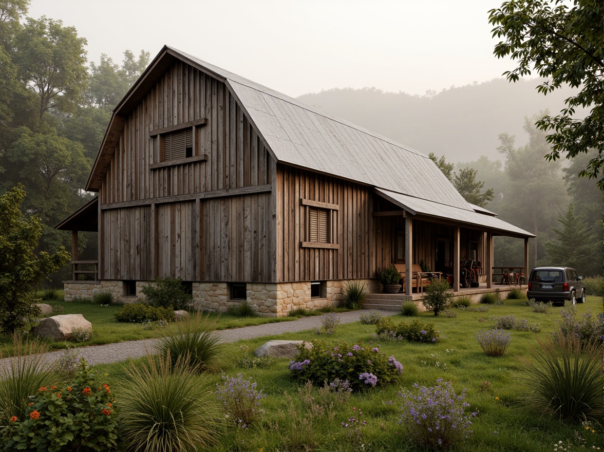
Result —
<path fill-rule="evenodd" d="M 532 234 L 468 204 L 416 150 L 164 47 L 115 108 L 86 190 L 57 228 L 98 231 L 66 299 L 134 300 L 181 277 L 204 308 L 246 299 L 265 315 L 336 303 L 391 263 L 483 263 L 492 237 Z M 411 294 L 411 265 L 403 291 Z"/>

